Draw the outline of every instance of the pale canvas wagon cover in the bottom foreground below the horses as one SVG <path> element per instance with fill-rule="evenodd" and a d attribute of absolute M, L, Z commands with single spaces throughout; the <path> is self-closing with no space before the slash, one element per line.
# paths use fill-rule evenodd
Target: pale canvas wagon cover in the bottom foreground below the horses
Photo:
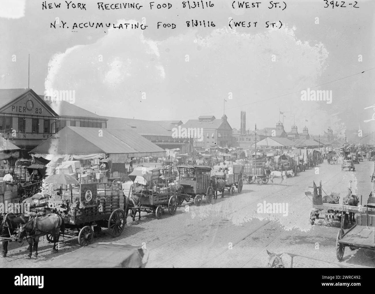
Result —
<path fill-rule="evenodd" d="M 117 243 L 96 243 L 58 256 L 43 268 L 139 268 L 144 252 L 140 246 Z"/>

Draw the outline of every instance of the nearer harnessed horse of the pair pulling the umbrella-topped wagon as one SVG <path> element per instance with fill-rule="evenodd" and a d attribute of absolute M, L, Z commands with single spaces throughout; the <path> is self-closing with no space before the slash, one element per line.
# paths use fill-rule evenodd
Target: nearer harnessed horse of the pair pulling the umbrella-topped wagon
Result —
<path fill-rule="evenodd" d="M 60 230 L 64 232 L 65 224 L 62 217 L 58 214 L 50 213 L 46 216 L 35 217 L 29 220 L 26 224 L 20 226 L 20 233 L 18 235 L 18 243 L 21 243 L 23 238 L 27 235 L 27 242 L 29 244 L 28 258 L 31 258 L 33 248 L 35 249 L 35 257 L 38 257 L 38 243 L 39 237 L 52 234 L 53 248 L 52 253 L 57 253 L 56 243 L 60 238 Z"/>

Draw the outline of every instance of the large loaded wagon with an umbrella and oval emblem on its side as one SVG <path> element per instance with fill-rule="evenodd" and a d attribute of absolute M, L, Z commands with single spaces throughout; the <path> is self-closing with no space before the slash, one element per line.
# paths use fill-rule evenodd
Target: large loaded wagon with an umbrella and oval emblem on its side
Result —
<path fill-rule="evenodd" d="M 103 187 L 101 187 L 103 186 Z M 62 217 L 66 231 L 61 237 L 78 236 L 78 243 L 86 246 L 93 240 L 93 231 L 108 228 L 112 237 L 119 236 L 126 225 L 125 213 L 120 208 L 122 190 L 106 188 L 97 182 L 78 184 L 61 199 L 49 199 L 46 214 L 56 213 Z M 46 235 L 53 242 L 52 235 Z"/>

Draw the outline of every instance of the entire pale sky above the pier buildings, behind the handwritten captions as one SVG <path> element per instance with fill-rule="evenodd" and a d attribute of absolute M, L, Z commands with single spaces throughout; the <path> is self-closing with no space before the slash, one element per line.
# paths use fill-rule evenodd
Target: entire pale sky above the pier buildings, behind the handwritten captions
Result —
<path fill-rule="evenodd" d="M 182 2 L 102 10 L 86 1 L 82 10 L 74 2 L 68 9 L 47 1 L 53 8 L 43 9 L 43 1 L 1 0 L 0 88 L 28 87 L 30 54 L 31 89 L 75 90 L 75 104 L 98 115 L 185 122 L 225 112 L 239 129 L 244 110 L 246 128 L 254 130 L 274 127 L 283 112 L 286 131 L 294 121 L 311 134 L 375 131 L 375 120 L 364 122 L 375 111 L 365 109 L 375 104 L 375 1 L 359 8 L 285 1 L 284 10 L 270 9 L 269 1 L 248 9 L 233 9 L 238 1 L 215 0 L 204 9 Z M 231 28 L 232 19 L 251 25 L 234 28 L 232 21 Z M 192 27 L 191 20 L 215 26 Z M 111 27 L 73 28 L 89 21 Z M 282 27 L 267 28 L 267 21 Z M 176 27 L 158 29 L 158 22 Z M 125 23 L 148 27 L 117 28 Z M 332 91 L 332 103 L 302 101 L 308 88 Z"/>

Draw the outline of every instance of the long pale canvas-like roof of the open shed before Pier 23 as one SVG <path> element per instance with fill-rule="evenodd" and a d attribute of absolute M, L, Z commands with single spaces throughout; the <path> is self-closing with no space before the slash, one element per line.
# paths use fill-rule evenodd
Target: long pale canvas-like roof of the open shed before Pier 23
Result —
<path fill-rule="evenodd" d="M 103 136 L 98 136 L 99 130 Z M 67 126 L 30 151 L 40 154 L 164 155 L 165 151 L 132 130 Z"/>

